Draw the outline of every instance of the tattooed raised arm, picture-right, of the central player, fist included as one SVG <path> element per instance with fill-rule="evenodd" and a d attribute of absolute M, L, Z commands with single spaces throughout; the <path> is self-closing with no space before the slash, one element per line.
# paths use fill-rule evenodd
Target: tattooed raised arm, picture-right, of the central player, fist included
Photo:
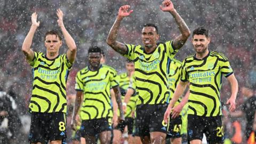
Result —
<path fill-rule="evenodd" d="M 172 44 L 175 49 L 180 49 L 186 43 L 190 35 L 190 30 L 185 21 L 180 17 L 179 13 L 174 9 L 174 6 L 170 0 L 165 0 L 160 6 L 160 9 L 164 12 L 170 12 L 177 23 L 181 34 L 174 38 Z"/>

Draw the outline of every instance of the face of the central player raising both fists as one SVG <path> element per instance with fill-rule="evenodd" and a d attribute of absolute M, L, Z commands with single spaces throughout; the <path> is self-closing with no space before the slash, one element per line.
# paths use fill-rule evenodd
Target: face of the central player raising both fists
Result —
<path fill-rule="evenodd" d="M 159 35 L 157 34 L 155 27 L 143 27 L 141 37 L 142 43 L 148 49 L 156 47 L 156 43 L 159 39 Z"/>

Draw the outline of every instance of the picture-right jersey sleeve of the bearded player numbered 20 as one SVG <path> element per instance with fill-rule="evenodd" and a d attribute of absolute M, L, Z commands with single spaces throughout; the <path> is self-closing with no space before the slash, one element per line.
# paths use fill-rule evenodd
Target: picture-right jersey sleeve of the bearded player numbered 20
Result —
<path fill-rule="evenodd" d="M 233 69 L 230 66 L 230 63 L 228 61 L 228 58 L 225 57 L 223 54 L 220 54 L 221 57 L 219 58 L 220 61 L 220 68 L 221 68 L 221 73 L 225 76 L 228 77 L 233 74 Z"/>

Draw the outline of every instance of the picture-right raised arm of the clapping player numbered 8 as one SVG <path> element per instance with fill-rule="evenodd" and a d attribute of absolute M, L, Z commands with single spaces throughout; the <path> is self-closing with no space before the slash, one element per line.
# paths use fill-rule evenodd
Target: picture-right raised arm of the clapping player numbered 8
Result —
<path fill-rule="evenodd" d="M 67 58 L 68 58 L 69 62 L 73 63 L 76 59 L 76 51 L 77 51 L 76 43 L 64 26 L 63 12 L 60 9 L 57 10 L 57 16 L 59 18 L 58 19 L 59 27 L 62 31 L 62 34 L 63 34 L 66 44 L 68 46 Z"/>

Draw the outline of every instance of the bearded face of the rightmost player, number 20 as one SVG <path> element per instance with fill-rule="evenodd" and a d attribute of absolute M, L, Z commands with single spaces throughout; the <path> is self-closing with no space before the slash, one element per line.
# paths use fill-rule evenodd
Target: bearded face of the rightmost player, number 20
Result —
<path fill-rule="evenodd" d="M 192 43 L 194 45 L 194 50 L 198 54 L 204 54 L 208 51 L 208 45 L 211 39 L 205 35 L 194 35 Z"/>

